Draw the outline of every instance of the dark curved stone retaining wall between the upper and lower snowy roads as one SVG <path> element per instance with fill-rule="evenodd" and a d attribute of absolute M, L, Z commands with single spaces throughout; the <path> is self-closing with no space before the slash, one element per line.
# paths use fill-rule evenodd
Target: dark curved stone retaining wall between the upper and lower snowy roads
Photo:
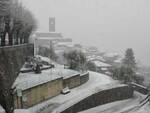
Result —
<path fill-rule="evenodd" d="M 131 98 L 132 96 L 133 90 L 127 85 L 106 89 L 89 96 L 61 113 L 77 113 L 109 102 Z"/>

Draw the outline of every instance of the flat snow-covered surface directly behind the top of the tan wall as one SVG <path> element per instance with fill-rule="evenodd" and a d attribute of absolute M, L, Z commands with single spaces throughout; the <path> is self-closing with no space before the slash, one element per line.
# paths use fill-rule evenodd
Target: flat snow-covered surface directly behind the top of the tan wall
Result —
<path fill-rule="evenodd" d="M 77 71 L 61 68 L 43 70 L 40 74 L 35 74 L 34 72 L 20 73 L 12 87 L 26 90 L 58 78 L 66 79 L 77 74 L 79 74 Z"/>

